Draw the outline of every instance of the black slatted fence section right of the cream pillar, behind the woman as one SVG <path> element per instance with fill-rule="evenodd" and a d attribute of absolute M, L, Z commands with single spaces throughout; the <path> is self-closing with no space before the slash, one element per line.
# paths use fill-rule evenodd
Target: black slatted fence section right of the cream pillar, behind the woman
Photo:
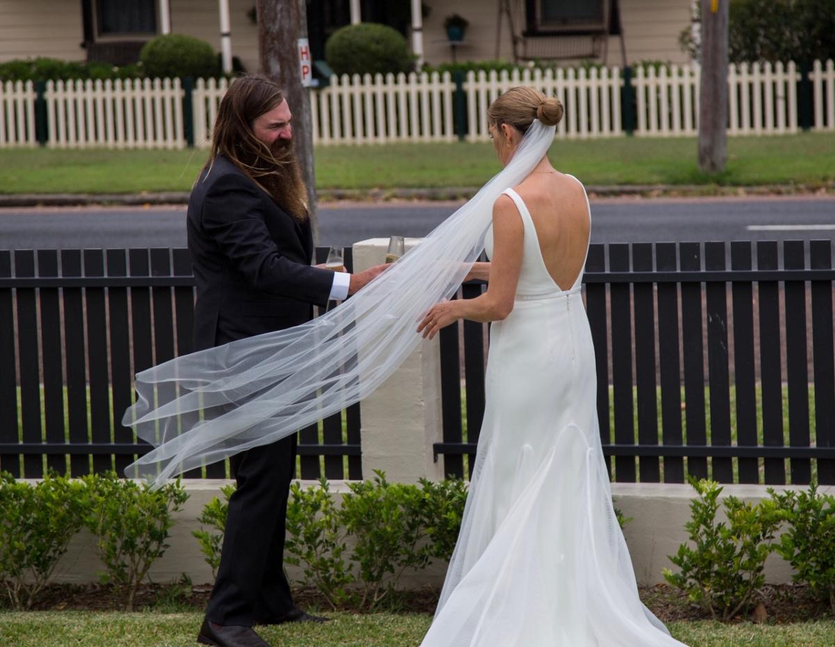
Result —
<path fill-rule="evenodd" d="M 613 480 L 835 483 L 832 242 L 790 240 L 780 251 L 748 241 L 591 245 L 584 293 Z M 465 285 L 462 296 L 482 290 Z M 467 474 L 478 442 L 484 328 L 441 331 L 434 448 L 448 474 Z"/>

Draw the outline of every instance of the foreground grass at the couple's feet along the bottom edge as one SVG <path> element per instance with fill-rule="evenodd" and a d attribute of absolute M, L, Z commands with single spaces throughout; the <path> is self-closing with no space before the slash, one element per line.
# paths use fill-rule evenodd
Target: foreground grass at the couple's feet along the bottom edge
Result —
<path fill-rule="evenodd" d="M 417 647 L 430 623 L 424 614 L 329 614 L 327 624 L 264 627 L 282 647 Z M 0 613 L 0 644 L 8 647 L 189 647 L 200 613 Z M 824 647 L 835 642 L 835 622 L 731 624 L 676 622 L 671 633 L 690 647 Z"/>

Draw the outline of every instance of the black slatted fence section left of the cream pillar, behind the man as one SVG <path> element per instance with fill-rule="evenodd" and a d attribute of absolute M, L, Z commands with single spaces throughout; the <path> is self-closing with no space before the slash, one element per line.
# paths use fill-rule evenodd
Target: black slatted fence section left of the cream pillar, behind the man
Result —
<path fill-rule="evenodd" d="M 188 250 L 0 250 L 0 469 L 121 473 L 149 451 L 121 424 L 131 380 L 191 351 L 194 303 Z M 362 478 L 360 461 L 358 404 L 299 434 L 301 478 Z"/>

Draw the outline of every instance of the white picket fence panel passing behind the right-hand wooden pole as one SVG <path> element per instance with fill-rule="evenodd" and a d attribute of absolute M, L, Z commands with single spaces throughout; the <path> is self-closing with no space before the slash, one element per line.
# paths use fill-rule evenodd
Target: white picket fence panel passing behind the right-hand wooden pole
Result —
<path fill-rule="evenodd" d="M 728 66 L 729 135 L 797 133 L 797 81 L 793 62 Z M 698 64 L 636 70 L 636 135 L 695 135 L 699 132 Z"/>

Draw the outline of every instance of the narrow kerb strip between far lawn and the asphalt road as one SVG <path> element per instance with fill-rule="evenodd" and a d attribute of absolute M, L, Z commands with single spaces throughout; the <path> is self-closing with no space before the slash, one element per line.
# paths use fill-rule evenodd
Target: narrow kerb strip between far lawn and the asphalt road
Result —
<path fill-rule="evenodd" d="M 715 184 L 610 184 L 586 186 L 591 197 L 631 196 L 702 197 L 744 195 L 835 195 L 835 184 L 824 188 L 809 188 L 802 184 L 766 184 L 757 186 L 717 186 Z M 335 200 L 468 200 L 478 187 L 449 187 L 443 189 L 324 189 L 319 191 L 320 202 Z M 168 191 L 139 194 L 10 194 L 0 195 L 0 207 L 79 206 L 79 205 L 186 205 L 189 193 Z"/>

